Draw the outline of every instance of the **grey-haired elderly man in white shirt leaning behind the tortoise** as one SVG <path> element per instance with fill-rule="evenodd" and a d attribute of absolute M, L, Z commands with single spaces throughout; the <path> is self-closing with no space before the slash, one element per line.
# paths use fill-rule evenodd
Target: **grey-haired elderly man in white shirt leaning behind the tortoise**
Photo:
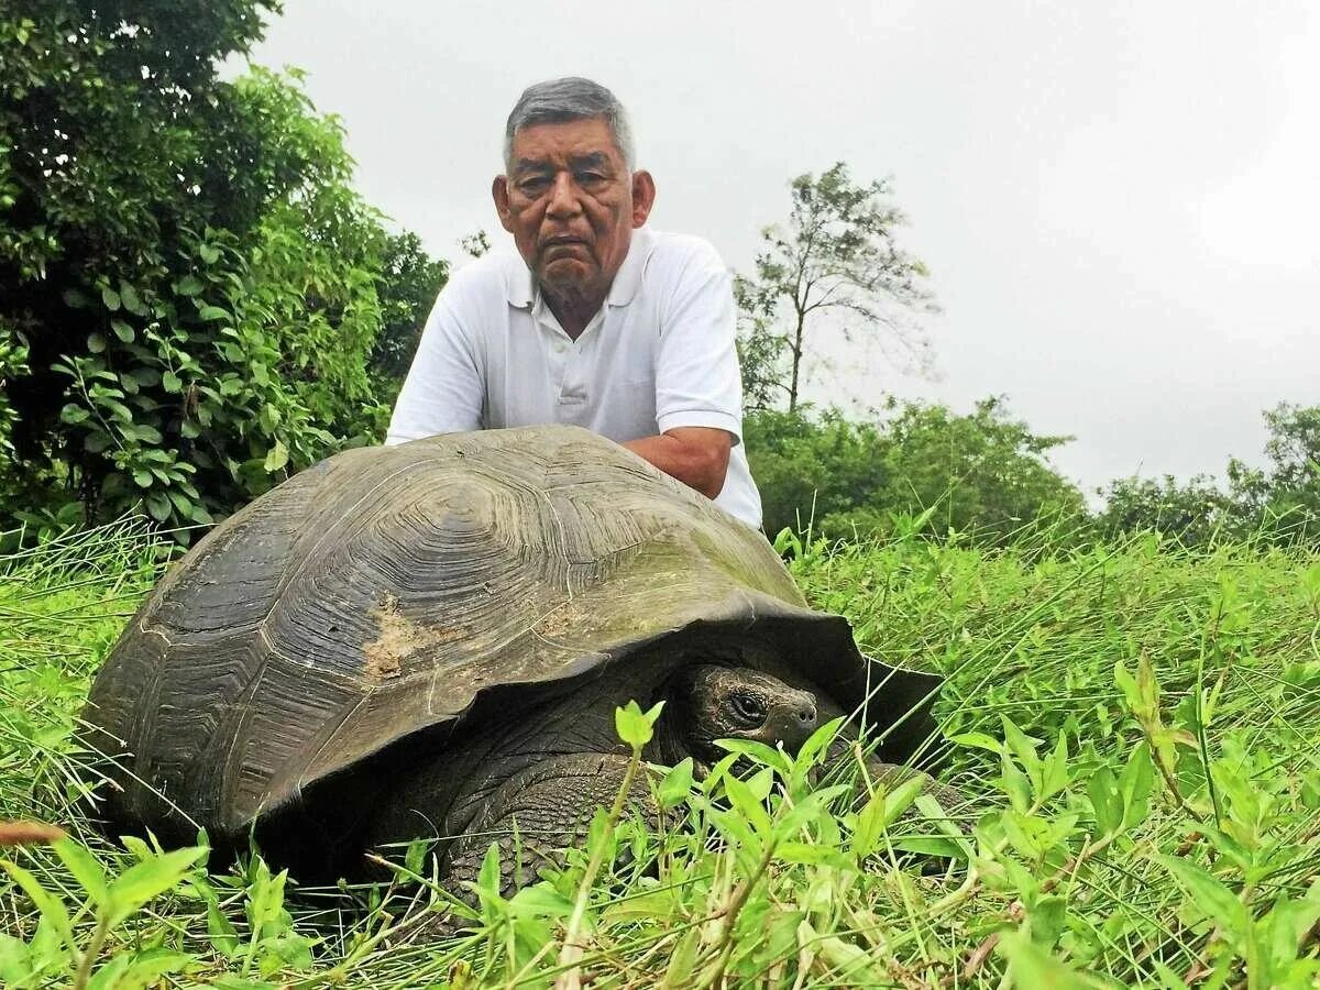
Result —
<path fill-rule="evenodd" d="M 521 260 L 487 255 L 436 300 L 387 444 L 564 422 L 645 458 L 748 525 L 729 272 L 704 240 L 645 226 L 614 94 L 587 79 L 523 92 L 491 187 Z"/>

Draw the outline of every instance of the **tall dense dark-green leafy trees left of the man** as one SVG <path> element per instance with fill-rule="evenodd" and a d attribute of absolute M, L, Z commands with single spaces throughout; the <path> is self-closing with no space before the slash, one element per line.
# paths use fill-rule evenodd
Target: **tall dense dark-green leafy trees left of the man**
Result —
<path fill-rule="evenodd" d="M 0 15 L 7 515 L 206 523 L 380 432 L 379 296 L 400 338 L 413 289 L 339 124 L 296 75 L 216 77 L 275 9 Z M 433 275 L 411 248 L 399 276 Z"/>

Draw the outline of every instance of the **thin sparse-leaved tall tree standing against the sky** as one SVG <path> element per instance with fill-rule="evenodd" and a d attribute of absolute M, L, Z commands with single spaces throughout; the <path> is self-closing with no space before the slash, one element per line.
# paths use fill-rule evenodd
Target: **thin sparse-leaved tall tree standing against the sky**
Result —
<path fill-rule="evenodd" d="M 855 331 L 876 334 L 924 367 L 929 342 L 912 317 L 935 304 L 925 265 L 895 242 L 907 219 L 888 203 L 887 182 L 858 185 L 838 162 L 818 177 L 799 176 L 791 191 L 787 230 L 762 231 L 755 275 L 739 279 L 735 293 L 747 317 L 744 391 L 759 407 L 777 393 L 795 412 L 808 330 L 821 317 L 834 313 L 849 339 Z"/>

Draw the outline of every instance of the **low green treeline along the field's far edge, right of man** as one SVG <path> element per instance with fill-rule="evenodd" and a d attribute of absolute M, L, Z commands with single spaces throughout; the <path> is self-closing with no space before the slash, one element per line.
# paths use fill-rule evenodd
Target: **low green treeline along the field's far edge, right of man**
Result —
<path fill-rule="evenodd" d="M 836 412 L 759 411 L 744 426 L 766 531 L 829 539 L 896 535 L 1003 545 L 1031 531 L 1081 545 L 1151 532 L 1170 544 L 1303 545 L 1320 549 L 1320 407 L 1265 414 L 1269 465 L 1233 458 L 1226 482 L 1125 478 L 1088 510 L 1048 462 L 1069 437 L 1038 436 L 1001 399 L 958 414 L 942 405 L 892 403 L 858 422 Z"/>

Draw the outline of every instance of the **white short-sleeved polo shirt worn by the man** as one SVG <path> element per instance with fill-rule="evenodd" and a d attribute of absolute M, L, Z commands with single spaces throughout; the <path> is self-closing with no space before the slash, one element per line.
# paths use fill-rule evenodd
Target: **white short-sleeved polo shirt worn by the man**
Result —
<path fill-rule="evenodd" d="M 700 238 L 632 231 L 601 312 L 572 339 L 516 253 L 454 273 L 426 321 L 387 444 L 562 422 L 616 442 L 676 426 L 734 436 L 715 504 L 760 527 L 742 447 L 729 271 Z"/>

